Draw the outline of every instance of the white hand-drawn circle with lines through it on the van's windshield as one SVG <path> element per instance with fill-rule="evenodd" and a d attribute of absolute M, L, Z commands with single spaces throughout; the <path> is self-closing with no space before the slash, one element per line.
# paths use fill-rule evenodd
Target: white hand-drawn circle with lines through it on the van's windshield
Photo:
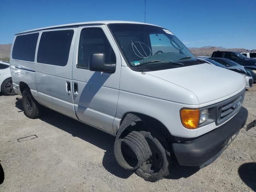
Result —
<path fill-rule="evenodd" d="M 148 58 L 152 53 L 149 46 L 139 41 L 132 42 L 132 50 L 140 58 Z"/>

